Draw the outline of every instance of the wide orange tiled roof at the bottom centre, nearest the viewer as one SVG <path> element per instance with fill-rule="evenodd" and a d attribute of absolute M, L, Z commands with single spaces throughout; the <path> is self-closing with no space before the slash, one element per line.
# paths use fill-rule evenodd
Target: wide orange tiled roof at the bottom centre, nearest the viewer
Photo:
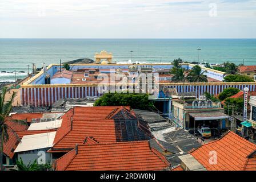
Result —
<path fill-rule="evenodd" d="M 148 141 L 79 145 L 55 161 L 57 171 L 162 170 L 169 162 Z"/>

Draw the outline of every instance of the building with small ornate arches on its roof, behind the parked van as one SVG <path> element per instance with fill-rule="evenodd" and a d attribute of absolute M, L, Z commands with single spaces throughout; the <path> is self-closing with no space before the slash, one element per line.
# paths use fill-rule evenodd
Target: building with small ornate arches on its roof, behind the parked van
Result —
<path fill-rule="evenodd" d="M 172 100 L 174 122 L 184 129 L 197 129 L 210 126 L 218 129 L 230 127 L 228 115 L 224 114 L 221 104 L 207 100 L 204 96 L 194 98 L 174 98 Z"/>

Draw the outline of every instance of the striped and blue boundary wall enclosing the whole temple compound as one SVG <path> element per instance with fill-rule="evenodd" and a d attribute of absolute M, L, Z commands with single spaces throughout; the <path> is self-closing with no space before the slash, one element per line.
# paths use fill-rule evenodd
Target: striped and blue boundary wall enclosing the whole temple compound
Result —
<path fill-rule="evenodd" d="M 128 69 L 131 64 L 71 64 L 71 70 L 83 68 L 97 68 L 97 69 Z M 135 64 L 138 67 L 146 65 L 152 66 L 154 69 L 170 69 L 173 67 L 171 64 Z M 191 69 L 193 64 L 183 64 L 182 67 Z M 47 67 L 47 73 L 52 77 L 54 73 L 59 70 L 58 64 L 51 64 Z M 215 71 L 209 68 L 207 76 L 217 80 L 223 80 L 223 72 Z M 33 78 L 25 82 L 21 86 L 21 101 L 22 105 L 26 106 L 51 106 L 55 101 L 61 98 L 85 98 L 87 96 L 101 96 L 99 90 L 103 86 L 98 84 L 54 84 L 45 85 L 45 73 L 41 71 Z M 256 91 L 256 82 L 203 82 L 203 83 L 161 83 L 160 88 L 176 88 L 178 93 L 181 92 L 195 92 L 197 97 L 201 96 L 204 92 L 217 95 L 225 88 L 233 87 L 243 90 L 248 87 L 250 91 Z"/>

